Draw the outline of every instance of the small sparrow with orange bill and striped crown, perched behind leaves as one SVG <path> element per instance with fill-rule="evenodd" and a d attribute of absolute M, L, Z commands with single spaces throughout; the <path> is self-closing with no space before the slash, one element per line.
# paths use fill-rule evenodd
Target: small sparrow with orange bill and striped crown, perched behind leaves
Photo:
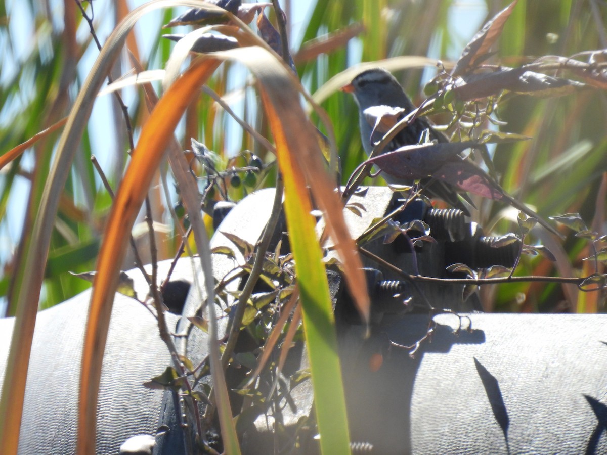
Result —
<path fill-rule="evenodd" d="M 358 104 L 362 146 L 365 149 L 365 152 L 367 152 L 367 155 L 370 155 L 373 150 L 373 141 L 381 139 L 382 136 L 379 135 L 379 137 L 375 137 L 376 135 L 373 135 L 373 122 L 370 121 L 368 115 L 373 108 L 382 107 L 384 108 L 383 112 L 385 112 L 387 107 L 400 108 L 401 118 L 416 109 L 396 78 L 383 68 L 372 68 L 360 73 L 352 79 L 350 84 L 342 87 L 341 90 L 343 92 L 351 93 L 356 100 L 356 104 Z M 403 146 L 419 144 L 425 130 L 428 131 L 430 140 L 436 140 L 440 143 L 449 142 L 443 133 L 433 129 L 426 118 L 418 117 L 390 141 L 387 147 L 385 147 L 384 152 L 396 150 Z M 372 135 L 374 136 L 373 138 L 371 137 Z M 384 174 L 382 177 L 384 177 L 388 183 L 410 184 L 410 182 L 403 182 L 392 178 L 388 174 Z M 430 197 L 438 197 L 450 204 L 450 206 L 456 207 L 464 211 L 467 215 L 470 215 L 468 208 L 459 199 L 455 189 L 443 181 L 438 181 L 433 178 L 424 178 L 421 180 L 421 187 L 424 189 L 425 194 Z M 469 198 L 465 196 L 464 198 L 473 206 L 472 201 L 470 201 Z"/>

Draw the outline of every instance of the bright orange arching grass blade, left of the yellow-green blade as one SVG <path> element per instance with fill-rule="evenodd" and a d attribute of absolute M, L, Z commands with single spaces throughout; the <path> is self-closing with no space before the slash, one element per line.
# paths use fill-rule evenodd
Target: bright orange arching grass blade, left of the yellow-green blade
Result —
<path fill-rule="evenodd" d="M 127 248 L 128 233 L 148 191 L 151 179 L 172 139 L 175 127 L 192 95 L 219 66 L 217 60 L 199 62 L 158 101 L 132 156 L 112 207 L 93 281 L 89 320 L 84 340 L 79 403 L 78 453 L 95 453 L 97 399 L 107 328 L 118 284 L 117 264 Z M 212 295 L 212 288 L 209 295 Z M 227 391 L 226 391 L 227 394 Z M 230 416 L 231 417 L 231 416 Z M 223 429 L 223 426 L 222 426 Z"/>

